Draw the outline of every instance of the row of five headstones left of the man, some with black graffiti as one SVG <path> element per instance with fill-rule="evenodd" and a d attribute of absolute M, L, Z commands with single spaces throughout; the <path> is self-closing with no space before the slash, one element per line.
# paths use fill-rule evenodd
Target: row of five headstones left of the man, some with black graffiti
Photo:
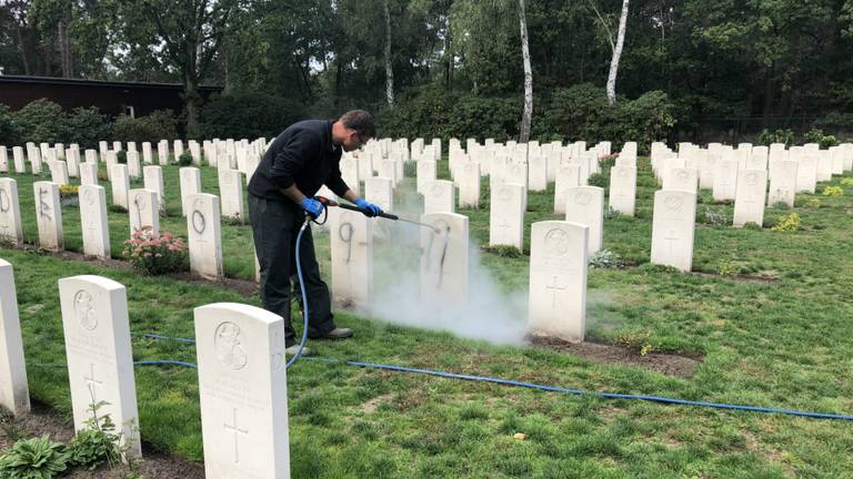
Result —
<path fill-rule="evenodd" d="M 33 192 L 39 246 L 48 251 L 64 249 L 59 184 L 36 182 Z M 114 193 L 113 190 L 113 201 Z M 110 233 L 106 190 L 99 185 L 82 185 L 78 195 L 83 254 L 108 259 L 110 258 Z M 131 203 L 130 234 L 150 227 L 152 234 L 158 235 L 160 228 L 158 193 L 145 188 L 129 190 L 126 200 Z M 223 273 L 219 197 L 207 193 L 192 193 L 184 197 L 184 205 L 188 211 L 190 269 L 204 278 L 220 279 Z M 18 183 L 9 177 L 0 179 L 0 235 L 16 246 L 23 244 Z"/>

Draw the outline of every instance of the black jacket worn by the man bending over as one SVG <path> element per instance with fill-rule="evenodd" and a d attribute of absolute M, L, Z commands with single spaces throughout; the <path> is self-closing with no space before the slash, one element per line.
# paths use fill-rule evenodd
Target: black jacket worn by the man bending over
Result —
<path fill-rule="evenodd" d="M 340 162 L 341 147 L 332 143 L 332 122 L 305 120 L 294 123 L 267 150 L 249 182 L 249 193 L 293 204 L 281 190 L 295 183 L 309 197 L 323 184 L 343 196 L 350 187 L 341 179 Z"/>

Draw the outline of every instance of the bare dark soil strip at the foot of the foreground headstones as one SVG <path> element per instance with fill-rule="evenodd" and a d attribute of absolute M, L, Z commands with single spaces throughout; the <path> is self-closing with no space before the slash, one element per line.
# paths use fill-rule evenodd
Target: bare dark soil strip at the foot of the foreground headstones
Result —
<path fill-rule="evenodd" d="M 66 445 L 74 437 L 73 426 L 68 420 L 50 407 L 37 401 L 32 402 L 30 414 L 20 418 L 3 418 L 1 422 L 0 449 L 14 444 L 16 438 L 10 434 L 12 431 L 21 438 L 40 437 L 48 434 L 52 440 Z M 76 471 L 63 477 L 70 479 L 120 479 L 127 472 L 128 468 L 120 466 L 112 470 L 101 468 L 94 471 Z M 139 472 L 142 477 L 152 479 L 204 479 L 203 465 L 165 455 L 151 448 L 144 441 L 142 442 L 142 461 L 139 465 Z"/>

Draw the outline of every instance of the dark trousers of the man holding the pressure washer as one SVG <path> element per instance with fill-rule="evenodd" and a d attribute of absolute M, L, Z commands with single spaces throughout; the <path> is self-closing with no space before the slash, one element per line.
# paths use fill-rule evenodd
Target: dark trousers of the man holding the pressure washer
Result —
<path fill-rule="evenodd" d="M 300 299 L 297 277 L 297 237 L 304 214 L 291 205 L 249 194 L 249 218 L 254 234 L 254 251 L 261 266 L 261 300 L 263 308 L 284 318 L 287 346 L 294 343 L 295 332 L 290 322 L 291 277 L 294 294 Z M 302 234 L 300 263 L 308 296 L 308 334 L 323 336 L 334 329 L 329 287 L 320 277 L 311 227 Z"/>

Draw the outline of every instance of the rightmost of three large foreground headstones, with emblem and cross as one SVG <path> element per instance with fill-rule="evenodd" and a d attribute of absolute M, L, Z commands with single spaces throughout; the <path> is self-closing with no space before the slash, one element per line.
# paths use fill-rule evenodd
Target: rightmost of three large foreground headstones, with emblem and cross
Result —
<path fill-rule="evenodd" d="M 205 477 L 289 478 L 283 319 L 234 303 L 194 319 Z"/>

